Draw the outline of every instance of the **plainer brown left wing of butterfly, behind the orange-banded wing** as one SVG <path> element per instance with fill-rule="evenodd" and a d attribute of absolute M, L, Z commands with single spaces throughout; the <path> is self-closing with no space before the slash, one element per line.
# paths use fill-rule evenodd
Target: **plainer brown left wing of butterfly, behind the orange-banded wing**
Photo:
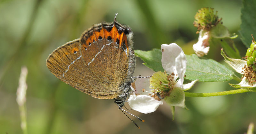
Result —
<path fill-rule="evenodd" d="M 70 41 L 55 49 L 46 60 L 46 66 L 61 81 L 89 95 L 91 85 L 81 86 L 96 78 L 91 77 L 89 69 L 84 65 L 79 51 L 80 39 Z"/>

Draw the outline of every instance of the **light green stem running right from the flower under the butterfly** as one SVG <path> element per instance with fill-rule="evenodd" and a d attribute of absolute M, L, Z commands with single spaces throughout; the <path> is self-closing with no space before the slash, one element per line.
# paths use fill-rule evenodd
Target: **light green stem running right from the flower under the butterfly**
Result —
<path fill-rule="evenodd" d="M 222 91 L 222 92 L 214 92 L 214 93 L 190 93 L 185 92 L 186 97 L 209 97 L 209 96 L 220 96 L 220 95 L 232 95 L 232 94 L 239 94 L 245 92 L 253 92 L 253 90 L 241 88 L 236 90 L 229 90 L 229 91 Z"/>

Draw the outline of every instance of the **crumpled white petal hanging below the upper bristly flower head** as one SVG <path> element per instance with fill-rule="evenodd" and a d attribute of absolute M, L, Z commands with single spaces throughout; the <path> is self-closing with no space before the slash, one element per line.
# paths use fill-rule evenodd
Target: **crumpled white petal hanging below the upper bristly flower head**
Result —
<path fill-rule="evenodd" d="M 199 33 L 198 41 L 196 44 L 193 45 L 193 49 L 198 57 L 202 57 L 204 55 L 207 55 L 207 53 L 210 50 L 210 44 L 209 44 L 209 39 L 210 39 L 210 34 L 208 32 L 204 32 L 203 36 L 203 31 L 201 30 Z"/>

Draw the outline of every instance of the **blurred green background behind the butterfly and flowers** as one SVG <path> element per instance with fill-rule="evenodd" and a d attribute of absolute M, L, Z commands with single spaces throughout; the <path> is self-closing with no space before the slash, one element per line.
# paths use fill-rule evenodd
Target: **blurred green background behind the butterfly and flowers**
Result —
<path fill-rule="evenodd" d="M 151 50 L 174 42 L 192 54 L 198 38 L 194 15 L 202 7 L 217 10 L 223 25 L 238 33 L 240 0 L 0 0 L 0 133 L 22 133 L 16 90 L 25 65 L 29 134 L 243 134 L 250 122 L 256 123 L 255 93 L 186 97 L 189 110 L 176 108 L 174 121 L 166 104 L 150 114 L 132 110 L 145 120 L 131 117 L 138 129 L 113 100 L 96 99 L 72 88 L 45 65 L 55 48 L 79 38 L 93 24 L 113 21 L 116 12 L 117 20 L 134 32 L 134 49 Z M 234 41 L 243 57 L 246 48 L 239 37 Z M 223 63 L 220 45 L 211 46 L 206 57 Z M 134 76 L 152 73 L 137 59 Z M 232 82 L 198 82 L 190 91 L 230 90 Z"/>

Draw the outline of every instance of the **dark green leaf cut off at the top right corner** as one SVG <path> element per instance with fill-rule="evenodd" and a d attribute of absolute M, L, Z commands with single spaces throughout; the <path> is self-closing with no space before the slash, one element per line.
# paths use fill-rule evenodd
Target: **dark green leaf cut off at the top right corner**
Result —
<path fill-rule="evenodd" d="M 241 20 L 240 25 L 241 40 L 246 47 L 250 47 L 252 43 L 252 36 L 256 36 L 256 1 L 255 0 L 243 0 L 243 7 L 241 9 Z"/>

